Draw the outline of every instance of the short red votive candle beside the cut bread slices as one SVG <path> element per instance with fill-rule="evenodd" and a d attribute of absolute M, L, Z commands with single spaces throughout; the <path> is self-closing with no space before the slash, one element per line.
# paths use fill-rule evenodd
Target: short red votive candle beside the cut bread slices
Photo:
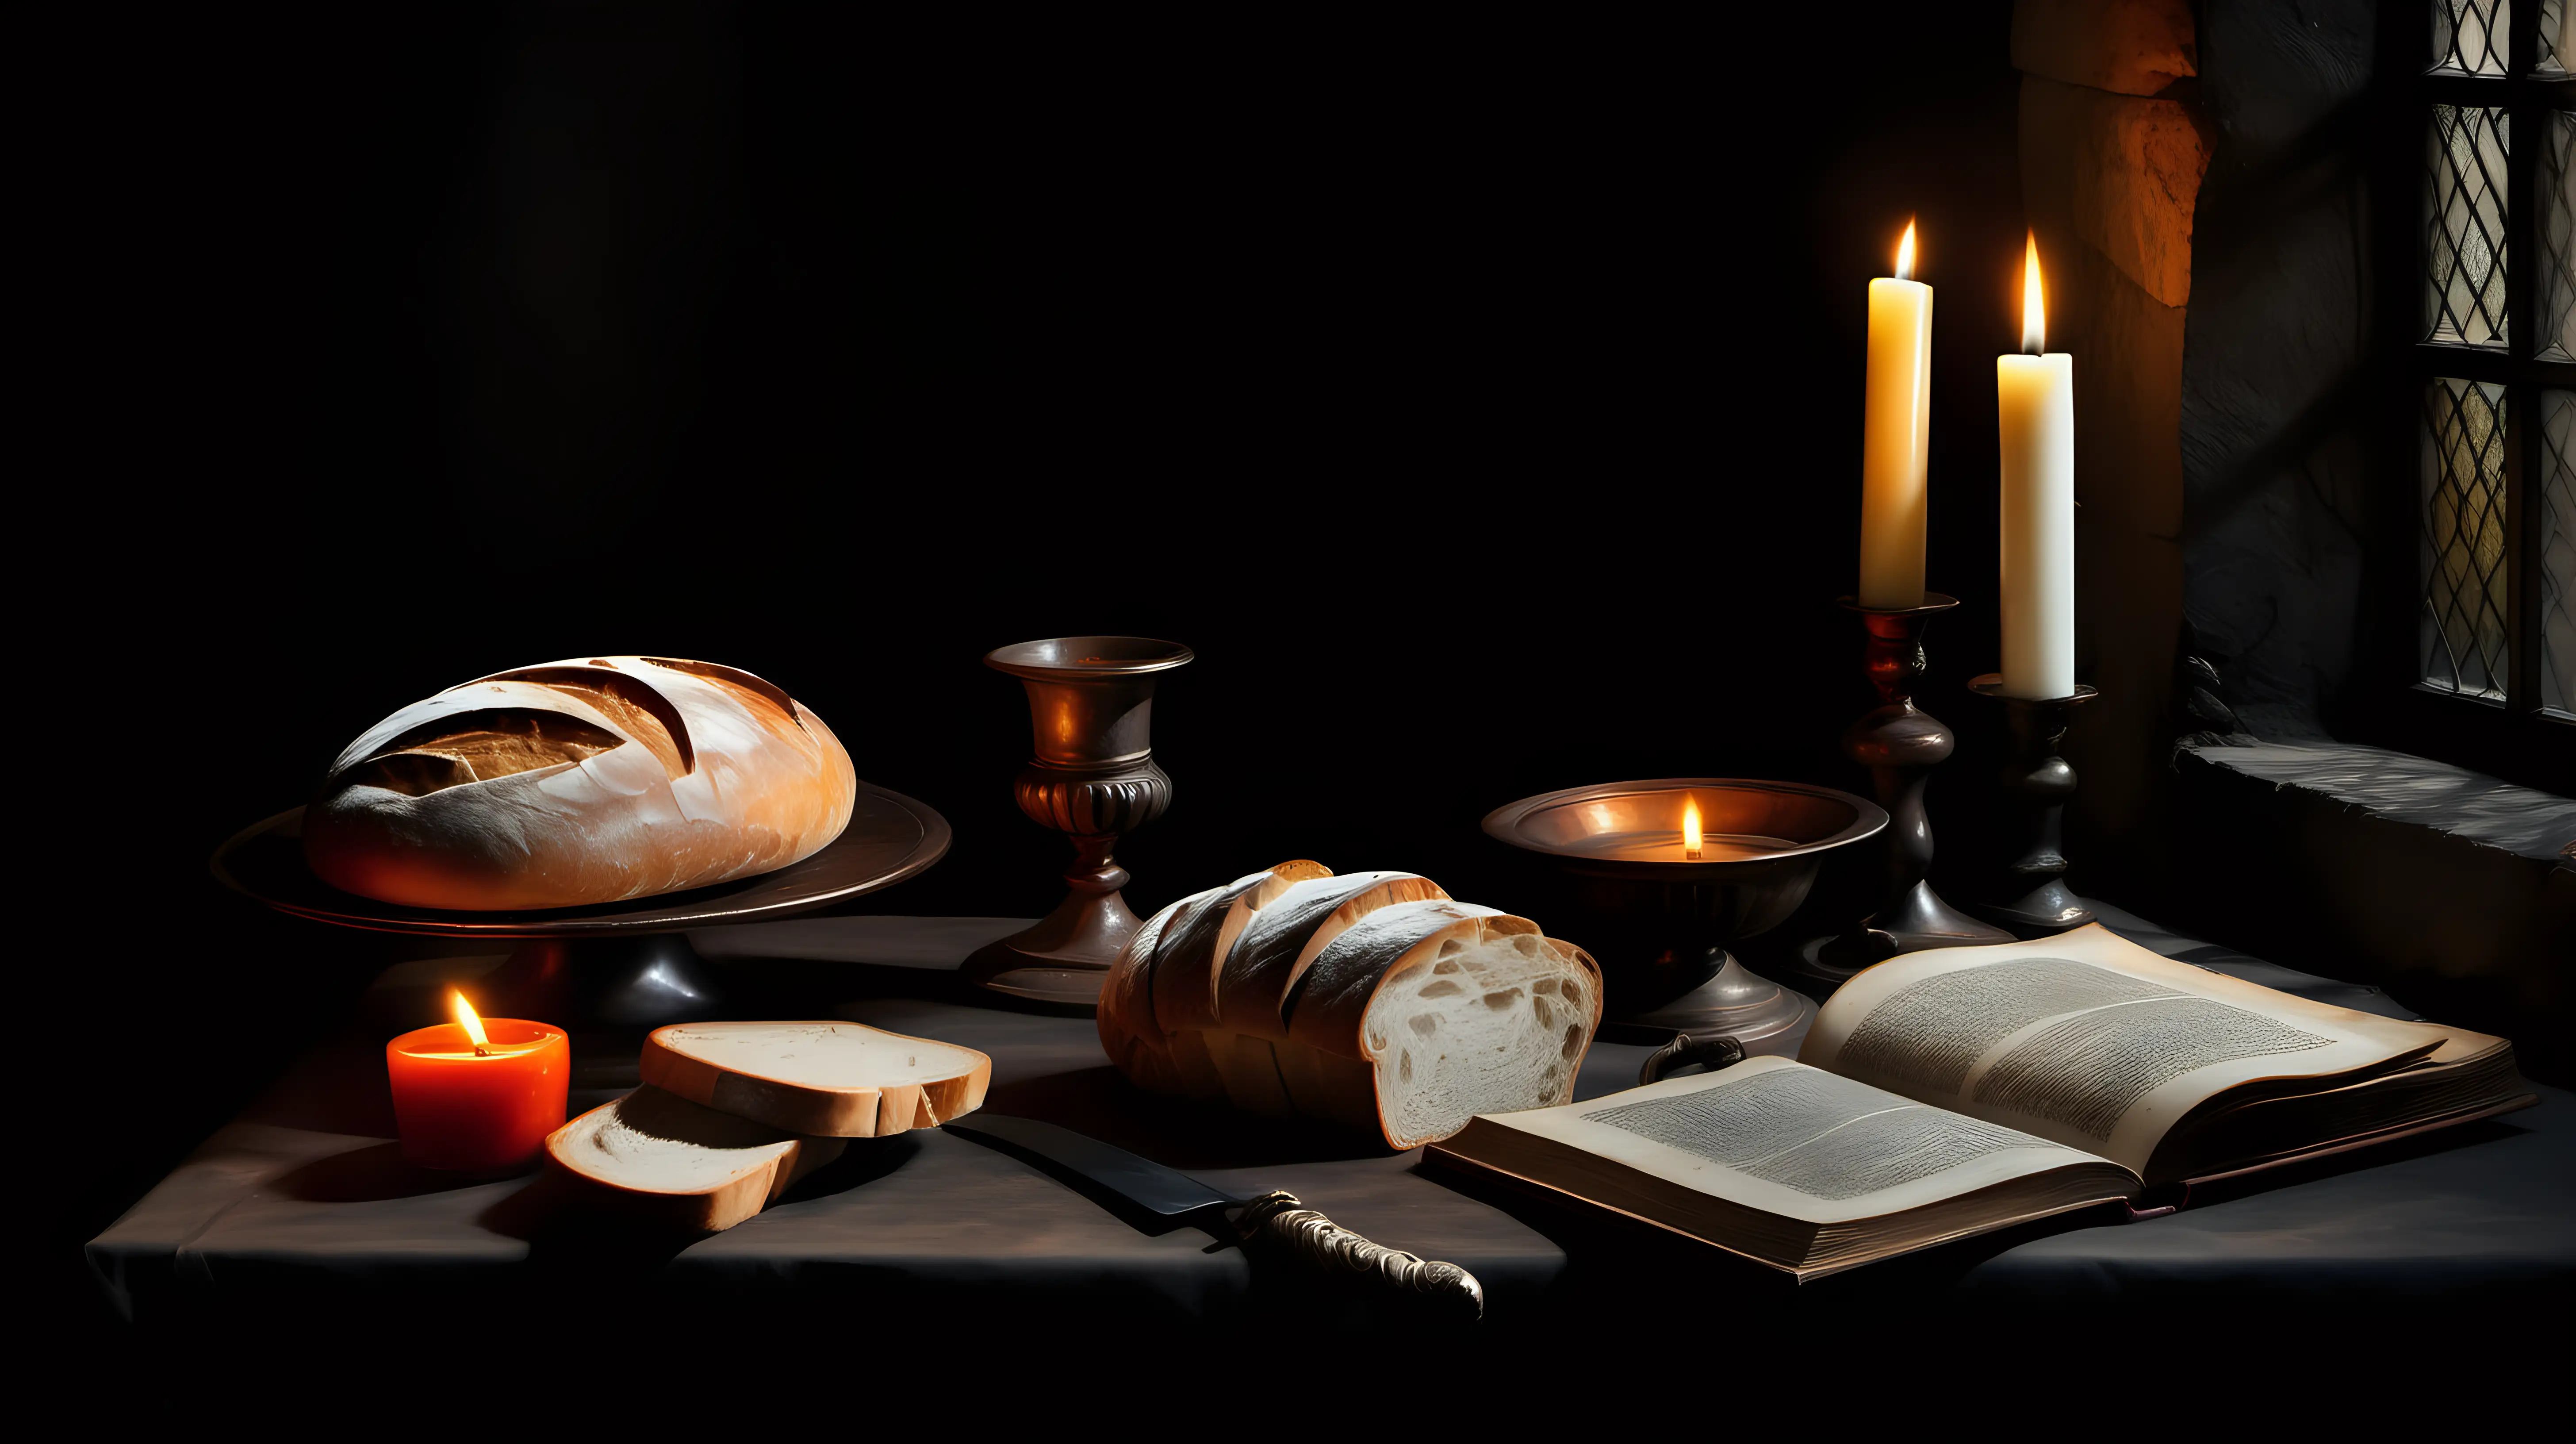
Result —
<path fill-rule="evenodd" d="M 422 1168 L 495 1173 L 523 1168 L 564 1127 L 572 1039 L 526 1019 L 435 1024 L 384 1044 L 402 1155 Z"/>

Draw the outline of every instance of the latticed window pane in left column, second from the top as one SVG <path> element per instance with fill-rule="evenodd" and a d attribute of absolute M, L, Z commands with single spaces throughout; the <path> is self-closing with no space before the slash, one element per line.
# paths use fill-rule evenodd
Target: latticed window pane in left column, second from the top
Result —
<path fill-rule="evenodd" d="M 2424 173 L 2424 338 L 2504 346 L 2504 150 L 2499 106 L 2434 106 Z"/>

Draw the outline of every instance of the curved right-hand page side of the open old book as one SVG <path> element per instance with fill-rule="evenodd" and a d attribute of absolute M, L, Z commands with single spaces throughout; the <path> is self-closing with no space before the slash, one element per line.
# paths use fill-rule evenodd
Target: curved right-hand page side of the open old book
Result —
<path fill-rule="evenodd" d="M 1798 1057 L 2143 1171 L 2213 1093 L 2385 1065 L 2442 1037 L 2202 972 L 2097 923 L 1870 967 Z"/>

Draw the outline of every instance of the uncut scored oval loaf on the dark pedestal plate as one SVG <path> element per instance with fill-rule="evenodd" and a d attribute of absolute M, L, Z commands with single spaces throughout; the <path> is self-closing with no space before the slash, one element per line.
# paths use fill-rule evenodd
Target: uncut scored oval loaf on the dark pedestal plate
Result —
<path fill-rule="evenodd" d="M 585 658 L 368 727 L 304 810 L 304 861 L 410 908 L 582 908 L 788 866 L 855 802 L 840 737 L 757 676 Z"/>

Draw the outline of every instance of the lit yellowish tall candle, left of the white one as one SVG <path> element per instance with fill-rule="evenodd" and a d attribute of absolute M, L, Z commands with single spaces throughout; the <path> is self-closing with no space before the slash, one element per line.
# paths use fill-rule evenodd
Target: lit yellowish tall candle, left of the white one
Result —
<path fill-rule="evenodd" d="M 1932 444 L 1932 286 L 1914 278 L 1914 222 L 1896 276 L 1870 281 L 1870 376 L 1860 433 L 1860 606 L 1924 603 L 1924 456 Z"/>

